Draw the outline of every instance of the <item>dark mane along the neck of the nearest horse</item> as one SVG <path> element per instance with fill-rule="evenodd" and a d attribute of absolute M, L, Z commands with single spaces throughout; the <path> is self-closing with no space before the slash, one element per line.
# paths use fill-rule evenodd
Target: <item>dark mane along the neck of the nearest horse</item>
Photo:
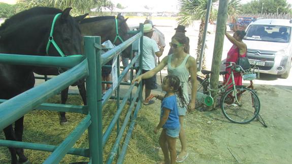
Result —
<path fill-rule="evenodd" d="M 33 18 L 40 15 L 53 15 L 61 13 L 62 10 L 49 7 L 35 7 L 28 10 L 19 12 L 12 17 L 5 20 L 5 22 L 0 26 L 0 30 L 4 30 L 10 25 L 19 23 L 20 21 L 27 20 L 27 17 Z"/>

